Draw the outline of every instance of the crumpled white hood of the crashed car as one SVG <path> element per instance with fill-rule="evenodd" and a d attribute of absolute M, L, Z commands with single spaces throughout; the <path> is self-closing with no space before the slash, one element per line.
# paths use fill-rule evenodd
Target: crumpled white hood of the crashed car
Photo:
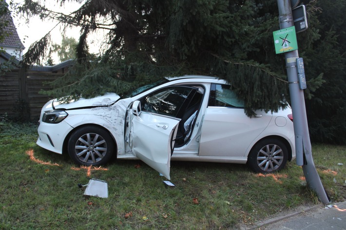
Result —
<path fill-rule="evenodd" d="M 73 109 L 83 107 L 98 107 L 98 106 L 109 106 L 115 103 L 120 98 L 116 93 L 106 93 L 102 96 L 94 98 L 79 98 L 78 100 L 71 100 L 69 102 L 61 102 L 57 99 L 53 100 L 52 106 L 55 109 Z"/>

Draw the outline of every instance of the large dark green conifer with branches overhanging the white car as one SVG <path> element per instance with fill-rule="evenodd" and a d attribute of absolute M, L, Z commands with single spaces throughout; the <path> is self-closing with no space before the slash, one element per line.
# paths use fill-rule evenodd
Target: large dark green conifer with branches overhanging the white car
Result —
<path fill-rule="evenodd" d="M 64 3 L 60 0 L 60 3 Z M 27 15 L 58 18 L 66 26 L 82 27 L 77 46 L 76 70 L 93 68 L 93 75 L 73 70 L 63 80 L 69 87 L 58 88 L 48 93 L 56 96 L 95 96 L 107 90 L 121 92 L 127 87 L 107 88 L 92 82 L 132 82 L 134 87 L 155 79 L 180 74 L 215 75 L 232 80 L 240 97 L 246 97 L 246 111 L 265 108 L 275 111 L 282 106 L 286 85 L 283 72 L 272 71 L 257 52 L 263 48 L 260 40 L 268 28 L 262 26 L 267 19 L 274 22 L 273 14 L 266 16 L 268 1 L 255 0 L 88 0 L 80 9 L 67 16 L 46 9 L 33 0 L 26 0 L 19 11 Z M 274 13 L 274 12 L 272 12 Z M 254 20 L 255 19 L 255 20 Z M 277 24 L 277 23 L 276 23 Z M 96 30 L 107 30 L 108 49 L 94 63 L 87 60 L 87 36 Z M 268 43 L 268 41 L 266 41 Z M 34 43 L 24 55 L 24 63 L 37 63 L 48 55 L 50 35 Z M 84 60 L 84 61 L 83 61 Z M 95 64 L 97 63 L 97 64 Z M 107 67 L 107 68 L 105 68 Z M 105 72 L 105 70 L 111 70 Z M 236 84 L 230 71 L 238 70 Z M 90 72 L 90 71 L 87 71 Z M 110 74 L 110 75 L 108 75 Z M 270 83 L 265 82 L 270 78 Z M 102 79 L 100 79 L 102 78 Z M 103 79 L 105 78 L 105 79 Z M 79 83 L 83 81 L 83 88 Z M 263 86 L 272 84 L 275 92 L 263 93 Z M 85 87 L 91 90 L 85 90 Z M 250 90 L 250 97 L 249 95 Z M 88 92 L 88 93 L 87 93 Z M 245 93 L 246 92 L 246 93 Z M 253 94 L 252 94 L 253 92 Z M 260 96 L 260 98 L 258 98 Z"/>

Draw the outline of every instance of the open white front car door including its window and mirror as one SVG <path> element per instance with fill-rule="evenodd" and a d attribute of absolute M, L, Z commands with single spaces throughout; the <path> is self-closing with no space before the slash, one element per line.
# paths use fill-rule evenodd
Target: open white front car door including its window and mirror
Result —
<path fill-rule="evenodd" d="M 160 88 L 135 101 L 130 111 L 129 144 L 133 154 L 170 179 L 178 124 L 196 88 Z"/>

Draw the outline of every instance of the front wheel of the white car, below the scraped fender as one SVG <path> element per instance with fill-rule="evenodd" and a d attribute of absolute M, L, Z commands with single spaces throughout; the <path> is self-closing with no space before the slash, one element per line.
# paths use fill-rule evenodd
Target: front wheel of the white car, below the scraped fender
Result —
<path fill-rule="evenodd" d="M 112 158 L 114 146 L 108 131 L 97 126 L 84 126 L 71 134 L 68 153 L 79 165 L 103 165 Z"/>

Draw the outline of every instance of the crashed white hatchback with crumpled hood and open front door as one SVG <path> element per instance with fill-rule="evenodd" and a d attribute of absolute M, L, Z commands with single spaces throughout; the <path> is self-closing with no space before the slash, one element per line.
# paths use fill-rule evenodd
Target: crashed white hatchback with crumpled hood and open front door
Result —
<path fill-rule="evenodd" d="M 171 159 L 276 172 L 295 159 L 291 109 L 255 113 L 245 114 L 225 80 L 174 77 L 126 98 L 51 100 L 41 111 L 37 144 L 83 165 L 105 164 L 113 155 L 141 159 L 168 179 Z"/>

